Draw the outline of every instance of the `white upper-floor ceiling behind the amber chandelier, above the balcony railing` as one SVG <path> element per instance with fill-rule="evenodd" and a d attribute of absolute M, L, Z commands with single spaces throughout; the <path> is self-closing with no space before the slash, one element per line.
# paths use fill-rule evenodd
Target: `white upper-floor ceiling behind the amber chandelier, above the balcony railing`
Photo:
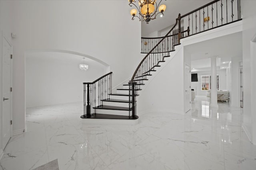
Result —
<path fill-rule="evenodd" d="M 157 2 L 160 2 L 160 0 L 157 0 Z M 164 16 L 160 17 L 160 15 L 158 15 L 155 20 L 151 20 L 148 24 L 142 21 L 142 37 L 173 25 L 179 13 L 185 15 L 209 2 L 212 2 L 212 0 L 162 0 L 161 4 L 166 5 Z M 134 21 L 136 21 L 136 19 Z"/>

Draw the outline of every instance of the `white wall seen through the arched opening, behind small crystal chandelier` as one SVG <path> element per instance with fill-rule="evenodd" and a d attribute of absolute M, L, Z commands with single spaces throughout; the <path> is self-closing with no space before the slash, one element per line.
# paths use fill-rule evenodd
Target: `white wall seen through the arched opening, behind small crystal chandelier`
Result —
<path fill-rule="evenodd" d="M 27 56 L 27 55 L 26 55 Z M 93 82 L 106 73 L 106 66 L 80 56 L 33 53 L 26 57 L 26 107 L 83 101 L 83 82 Z"/>

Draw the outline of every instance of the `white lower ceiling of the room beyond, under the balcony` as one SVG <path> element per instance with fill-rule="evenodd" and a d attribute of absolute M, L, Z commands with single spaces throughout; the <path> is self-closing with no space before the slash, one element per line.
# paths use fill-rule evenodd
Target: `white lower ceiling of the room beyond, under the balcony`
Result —
<path fill-rule="evenodd" d="M 220 60 L 217 62 L 220 69 L 226 68 L 232 57 L 242 57 L 242 32 L 185 46 L 184 54 L 191 57 L 191 68 L 210 67 L 209 57 L 212 56 Z"/>

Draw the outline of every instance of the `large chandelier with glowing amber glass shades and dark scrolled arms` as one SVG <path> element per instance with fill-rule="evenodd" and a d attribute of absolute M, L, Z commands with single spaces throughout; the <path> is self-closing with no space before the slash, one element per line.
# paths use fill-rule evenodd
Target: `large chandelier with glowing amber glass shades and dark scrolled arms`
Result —
<path fill-rule="evenodd" d="M 160 0 L 160 2 L 158 4 L 156 3 L 156 0 L 138 0 L 139 8 L 134 4 L 134 2 L 136 2 L 135 0 L 128 0 L 128 1 L 129 1 L 130 6 L 134 5 L 137 8 L 137 10 L 139 11 L 138 16 L 136 16 L 136 14 L 137 14 L 136 9 L 132 9 L 130 11 L 130 14 L 132 15 L 132 20 L 134 20 L 134 17 L 137 17 L 137 18 L 139 18 L 140 21 L 142 20 L 142 21 L 146 21 L 148 23 L 150 20 L 156 19 L 156 16 L 160 13 L 161 13 L 161 17 L 162 17 L 164 15 L 163 12 L 166 9 L 166 5 L 164 5 L 164 4 L 160 5 L 162 0 Z M 156 6 L 156 8 L 155 8 L 155 6 Z M 158 6 L 159 6 L 159 8 L 158 8 Z M 155 10 L 157 8 L 158 8 L 159 12 L 157 10 Z"/>

